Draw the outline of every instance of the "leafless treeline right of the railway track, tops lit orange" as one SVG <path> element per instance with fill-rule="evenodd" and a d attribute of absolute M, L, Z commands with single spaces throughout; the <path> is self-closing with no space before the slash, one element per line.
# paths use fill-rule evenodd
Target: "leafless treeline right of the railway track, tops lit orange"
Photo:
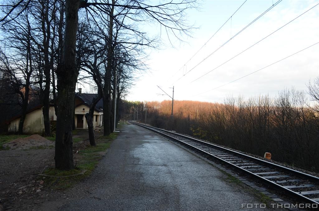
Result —
<path fill-rule="evenodd" d="M 147 124 L 170 130 L 172 101 L 143 105 L 141 122 L 146 107 Z M 128 108 L 131 115 L 132 107 Z M 305 93 L 294 89 L 281 91 L 276 98 L 228 97 L 223 104 L 176 100 L 173 130 L 259 156 L 271 152 L 273 160 L 319 171 L 316 108 L 318 102 L 308 105 Z"/>

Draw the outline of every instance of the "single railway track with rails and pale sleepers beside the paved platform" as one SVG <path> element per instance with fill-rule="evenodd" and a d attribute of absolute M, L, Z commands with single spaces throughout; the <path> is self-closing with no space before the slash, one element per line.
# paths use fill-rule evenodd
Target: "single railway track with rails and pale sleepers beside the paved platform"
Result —
<path fill-rule="evenodd" d="M 241 171 L 300 202 L 319 207 L 319 178 L 171 131 L 130 121 Z"/>

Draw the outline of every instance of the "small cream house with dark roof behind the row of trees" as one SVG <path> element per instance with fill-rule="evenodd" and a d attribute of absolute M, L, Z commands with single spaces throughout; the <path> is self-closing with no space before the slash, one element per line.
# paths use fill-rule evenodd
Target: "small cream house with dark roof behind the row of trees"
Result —
<path fill-rule="evenodd" d="M 87 128 L 85 114 L 89 112 L 89 109 L 90 109 L 89 106 L 91 105 L 91 102 L 95 96 L 96 94 L 81 93 L 81 91 L 75 94 L 74 121 L 75 121 L 75 127 L 77 129 Z M 26 119 L 23 125 L 23 133 L 42 133 L 44 131 L 44 120 L 43 120 L 42 109 L 43 109 L 43 105 L 38 105 L 27 111 Z M 94 108 L 94 113 L 93 113 L 94 128 L 102 125 L 102 120 L 103 120 L 102 109 L 103 109 L 103 100 L 100 99 L 100 101 L 97 103 L 97 105 Z M 21 115 L 18 115 L 7 122 L 8 132 L 18 132 L 20 116 Z M 49 118 L 50 118 L 51 125 L 54 125 L 56 122 L 56 115 L 55 115 L 53 104 L 50 104 Z"/>

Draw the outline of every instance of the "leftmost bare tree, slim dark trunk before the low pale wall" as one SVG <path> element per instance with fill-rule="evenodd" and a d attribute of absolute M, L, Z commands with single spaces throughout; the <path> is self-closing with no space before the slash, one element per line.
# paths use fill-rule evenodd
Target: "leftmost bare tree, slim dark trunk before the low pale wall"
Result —
<path fill-rule="evenodd" d="M 24 21 L 22 22 L 22 19 Z M 29 94 L 32 83 L 33 55 L 31 39 L 31 25 L 27 12 L 23 12 L 4 30 L 7 32 L 8 48 L 14 56 L 7 56 L 1 51 L 1 62 L 7 79 L 10 80 L 11 87 L 21 98 L 22 114 L 19 121 L 19 134 L 23 134 L 23 125 L 29 102 Z"/>

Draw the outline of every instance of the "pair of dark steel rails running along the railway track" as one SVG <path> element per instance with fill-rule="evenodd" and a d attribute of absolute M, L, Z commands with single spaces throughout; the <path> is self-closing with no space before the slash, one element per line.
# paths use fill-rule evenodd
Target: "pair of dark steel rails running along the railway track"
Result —
<path fill-rule="evenodd" d="M 229 165 L 229 166 L 235 168 L 236 170 L 239 170 L 239 171 L 241 171 L 241 172 L 243 172 L 243 173 L 245 173 L 245 174 L 248 174 L 248 175 L 250 175 L 250 176 L 252 176 L 252 177 L 254 177 L 254 178 L 258 179 L 258 180 L 261 180 L 263 183 L 268 184 L 268 185 L 270 185 L 271 187 L 273 187 L 273 188 L 275 188 L 275 189 L 277 189 L 277 190 L 283 191 L 284 193 L 288 194 L 289 196 L 291 196 L 291 197 L 293 197 L 293 198 L 297 198 L 298 200 L 300 200 L 300 201 L 302 201 L 302 202 L 311 203 L 311 204 L 317 204 L 317 205 L 319 206 L 319 202 L 318 202 L 318 201 L 314 201 L 314 200 L 312 200 L 312 199 L 310 199 L 310 198 L 308 198 L 308 197 L 305 197 L 305 196 L 303 196 L 303 195 L 301 195 L 301 194 L 299 194 L 299 193 L 297 193 L 297 192 L 294 192 L 293 190 L 290 190 L 290 189 L 288 189 L 288 188 L 286 188 L 286 187 L 284 187 L 284 186 L 281 186 L 281 185 L 279 185 L 279 184 L 277 184 L 277 183 L 275 183 L 275 182 L 273 182 L 273 181 L 271 181 L 271 180 L 268 180 L 268 179 L 266 179 L 266 178 L 263 178 L 263 177 L 261 177 L 261 176 L 255 174 L 255 173 L 253 173 L 253 172 L 251 172 L 251 171 L 248 171 L 248 170 L 246 170 L 246 169 L 243 169 L 243 168 L 241 168 L 240 166 L 237 166 L 237 165 L 235 165 L 235 164 L 232 164 L 232 163 L 230 163 L 230 162 L 228 162 L 228 161 L 226 161 L 226 160 L 224 160 L 224 159 L 222 159 L 222 158 L 220 158 L 220 157 L 218 157 L 218 156 L 212 155 L 212 154 L 210 154 L 209 152 L 204 151 L 203 149 L 199 149 L 198 147 L 195 147 L 195 146 L 193 146 L 193 145 L 191 145 L 191 144 L 188 144 L 188 143 L 186 143 L 186 142 L 183 142 L 182 140 L 179 140 L 179 139 L 174 138 L 174 137 L 172 137 L 172 136 L 170 136 L 170 135 L 161 133 L 161 132 L 159 132 L 159 131 L 163 131 L 163 132 L 166 132 L 166 133 L 169 133 L 169 134 L 173 134 L 173 135 L 176 135 L 176 136 L 179 136 L 179 137 L 182 137 L 182 138 L 191 140 L 191 141 L 195 141 L 195 142 L 204 144 L 205 146 L 209 146 L 209 147 L 212 147 L 212 148 L 217 148 L 217 149 L 219 149 L 219 150 L 221 150 L 221 151 L 226 151 L 226 152 L 228 152 L 228 153 L 230 153 L 230 154 L 234 154 L 234 155 L 237 155 L 237 156 L 240 156 L 240 157 L 243 157 L 243 158 L 248 158 L 249 160 L 253 160 L 253 161 L 255 161 L 255 162 L 258 163 L 258 164 L 264 164 L 265 166 L 268 166 L 268 167 L 271 167 L 271 168 L 275 168 L 275 169 L 278 169 L 278 170 L 282 170 L 282 171 L 284 171 L 285 173 L 289 173 L 289 174 L 291 174 L 291 175 L 293 175 L 293 176 L 299 176 L 299 177 L 301 177 L 301 178 L 310 180 L 310 181 L 315 182 L 315 183 L 317 183 L 317 184 L 319 183 L 319 178 L 318 178 L 318 177 L 315 177 L 315 176 L 312 176 L 312 175 L 309 175 L 309 174 L 306 174 L 306 173 L 303 173 L 303 172 L 300 172 L 300 171 L 296 171 L 296 170 L 293 170 L 293 169 L 289 169 L 289 168 L 287 168 L 287 167 L 280 166 L 280 165 L 278 165 L 278 164 L 273 164 L 273 163 L 270 163 L 270 162 L 267 162 L 267 161 L 258 159 L 258 158 L 256 158 L 256 157 L 252 157 L 252 156 L 249 156 L 249 155 L 245 155 L 245 154 L 242 154 L 242 153 L 240 153 L 240 152 L 236 152 L 236 151 L 231 150 L 231 149 L 226 149 L 226 148 L 217 146 L 217 145 L 215 145 L 215 144 L 203 142 L 203 141 L 201 141 L 201 140 L 197 140 L 197 139 L 192 138 L 192 137 L 188 137 L 188 136 L 185 136 L 185 135 L 181 135 L 181 134 L 178 134 L 178 133 L 174 133 L 174 132 L 172 132 L 172 131 L 168 131 L 168 130 L 164 130 L 164 129 L 160 129 L 160 128 L 152 127 L 152 126 L 146 126 L 146 125 L 142 125 L 142 124 L 139 124 L 139 123 L 136 123 L 136 122 L 132 122 L 132 121 L 130 121 L 130 123 L 135 124 L 135 125 L 138 125 L 138 126 L 141 126 L 141 127 L 144 127 L 144 128 L 146 128 L 146 129 L 149 129 L 149 130 L 152 130 L 152 131 L 155 131 L 155 132 L 157 132 L 157 133 L 160 133 L 161 135 L 164 135 L 164 136 L 166 136 L 167 138 L 170 138 L 170 139 L 174 139 L 175 141 L 182 142 L 182 144 L 187 145 L 187 146 L 190 147 L 190 148 L 196 149 L 197 151 L 199 151 L 199 152 L 201 152 L 201 153 L 204 153 L 205 155 L 208 155 L 208 156 L 210 156 L 210 157 L 212 157 L 212 158 L 214 158 L 214 159 L 217 159 L 217 160 L 219 160 L 220 162 L 225 163 L 225 164 L 227 164 L 227 165 Z"/>

